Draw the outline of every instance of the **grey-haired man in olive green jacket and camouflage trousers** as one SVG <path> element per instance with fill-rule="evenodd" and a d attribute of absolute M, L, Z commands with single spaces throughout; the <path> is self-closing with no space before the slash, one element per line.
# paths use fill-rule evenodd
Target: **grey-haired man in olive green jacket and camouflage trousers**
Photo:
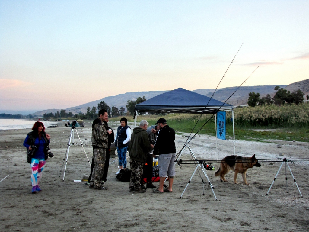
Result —
<path fill-rule="evenodd" d="M 143 193 L 146 190 L 141 188 L 141 180 L 143 175 L 144 163 L 147 161 L 147 154 L 154 147 L 149 142 L 148 134 L 146 132 L 148 122 L 142 120 L 139 127 L 133 129 L 131 135 L 130 147 L 130 169 L 131 178 L 129 185 L 129 192 Z"/>

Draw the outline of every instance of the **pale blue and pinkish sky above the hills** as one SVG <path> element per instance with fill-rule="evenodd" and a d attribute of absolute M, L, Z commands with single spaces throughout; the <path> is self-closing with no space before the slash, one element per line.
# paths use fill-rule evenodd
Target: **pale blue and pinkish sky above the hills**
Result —
<path fill-rule="evenodd" d="M 0 113 L 309 79 L 309 1 L 2 1 Z"/>

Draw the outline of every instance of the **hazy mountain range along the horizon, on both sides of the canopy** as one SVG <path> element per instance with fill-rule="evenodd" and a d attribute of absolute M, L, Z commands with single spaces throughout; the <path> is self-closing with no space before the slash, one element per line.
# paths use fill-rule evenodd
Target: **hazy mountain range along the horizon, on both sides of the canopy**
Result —
<path fill-rule="evenodd" d="M 260 97 L 265 97 L 266 94 L 270 94 L 270 96 L 273 96 L 276 92 L 274 90 L 276 86 L 277 85 L 241 86 L 235 92 L 233 96 L 231 96 L 231 94 L 238 88 L 237 86 L 220 88 L 220 89 L 217 89 L 213 98 L 224 102 L 226 101 L 228 97 L 231 96 L 231 98 L 227 101 L 227 103 L 231 105 L 245 105 L 247 104 L 247 101 L 248 101 L 249 92 L 259 92 Z M 295 82 L 289 85 L 278 85 L 278 86 L 280 86 L 280 88 L 285 88 L 287 90 L 290 90 L 291 92 L 293 92 L 294 90 L 300 89 L 304 92 L 305 96 L 309 94 L 309 79 L 298 81 L 298 82 Z M 146 99 L 150 99 L 152 97 L 155 97 L 161 93 L 168 92 L 168 91 L 169 90 L 121 93 L 116 96 L 104 97 L 100 100 L 91 101 L 91 102 L 78 105 L 78 106 L 74 106 L 74 107 L 69 107 L 69 108 L 66 108 L 65 110 L 67 113 L 72 112 L 73 114 L 86 113 L 88 106 L 90 108 L 92 108 L 93 106 L 98 107 L 98 103 L 100 103 L 101 101 L 104 101 L 107 105 L 110 106 L 110 108 L 112 108 L 112 106 L 115 106 L 118 109 L 120 109 L 121 107 L 124 107 L 126 109 L 126 103 L 128 100 L 135 101 L 137 97 L 143 97 L 143 96 L 145 96 Z M 193 90 L 193 92 L 205 95 L 207 97 L 211 97 L 212 93 L 214 92 L 214 89 L 196 89 L 196 90 Z M 48 113 L 54 114 L 57 111 L 60 112 L 60 109 L 49 109 L 49 110 L 37 111 L 33 113 L 32 115 L 42 116 L 43 114 L 48 114 Z"/>

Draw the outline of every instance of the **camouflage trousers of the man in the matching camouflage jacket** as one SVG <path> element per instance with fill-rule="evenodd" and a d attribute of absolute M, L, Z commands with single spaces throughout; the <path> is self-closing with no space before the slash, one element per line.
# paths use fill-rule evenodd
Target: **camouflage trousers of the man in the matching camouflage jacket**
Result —
<path fill-rule="evenodd" d="M 99 188 L 102 186 L 100 179 L 102 179 L 104 173 L 106 148 L 93 148 L 93 160 L 95 161 L 95 166 L 92 171 L 89 185 L 94 188 Z"/>

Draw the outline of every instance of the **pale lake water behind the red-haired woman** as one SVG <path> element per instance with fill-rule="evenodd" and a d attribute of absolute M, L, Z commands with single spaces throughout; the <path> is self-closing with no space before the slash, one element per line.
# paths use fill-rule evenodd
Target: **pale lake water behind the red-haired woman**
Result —
<path fill-rule="evenodd" d="M 0 130 L 11 130 L 11 129 L 26 129 L 32 128 L 34 120 L 27 119 L 9 119 L 9 118 L 0 118 Z M 51 121 L 42 121 L 44 127 L 58 125 L 58 122 Z"/>

